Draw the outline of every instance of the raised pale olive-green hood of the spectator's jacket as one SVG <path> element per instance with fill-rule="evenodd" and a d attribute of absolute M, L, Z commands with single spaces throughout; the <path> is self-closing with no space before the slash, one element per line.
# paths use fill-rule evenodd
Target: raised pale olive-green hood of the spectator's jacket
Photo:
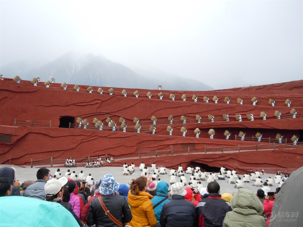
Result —
<path fill-rule="evenodd" d="M 230 201 L 230 205 L 233 208 L 240 208 L 240 209 L 251 209 L 256 211 L 258 214 L 262 214 L 264 207 L 263 204 L 260 202 L 256 193 L 254 193 L 250 189 L 239 189 L 234 197 Z M 240 209 L 236 209 L 235 211 L 240 211 Z M 254 213 L 253 211 L 243 211 L 245 213 Z"/>

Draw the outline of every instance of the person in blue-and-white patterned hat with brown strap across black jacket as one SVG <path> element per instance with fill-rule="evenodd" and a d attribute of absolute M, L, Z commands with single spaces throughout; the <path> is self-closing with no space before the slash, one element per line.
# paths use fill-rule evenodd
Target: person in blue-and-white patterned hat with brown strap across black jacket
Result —
<path fill-rule="evenodd" d="M 101 196 L 92 200 L 86 218 L 87 225 L 122 226 L 122 223 L 132 220 L 132 213 L 124 198 L 117 193 L 119 183 L 114 176 L 106 174 L 101 178 L 99 192 Z M 102 205 L 103 204 L 103 205 Z M 109 214 L 106 211 L 110 211 Z"/>

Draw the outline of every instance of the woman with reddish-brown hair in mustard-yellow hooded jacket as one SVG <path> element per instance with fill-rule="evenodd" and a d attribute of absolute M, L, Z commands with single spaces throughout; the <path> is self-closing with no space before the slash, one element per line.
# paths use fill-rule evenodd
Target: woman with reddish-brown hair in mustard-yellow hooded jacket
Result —
<path fill-rule="evenodd" d="M 148 176 L 147 178 L 141 176 L 137 179 L 133 179 L 130 183 L 130 190 L 127 197 L 133 219 L 131 222 L 127 223 L 127 225 L 133 227 L 154 227 L 158 224 L 151 202 L 151 199 L 154 198 L 154 196 L 146 192 L 147 186 L 151 182 L 151 176 Z"/>

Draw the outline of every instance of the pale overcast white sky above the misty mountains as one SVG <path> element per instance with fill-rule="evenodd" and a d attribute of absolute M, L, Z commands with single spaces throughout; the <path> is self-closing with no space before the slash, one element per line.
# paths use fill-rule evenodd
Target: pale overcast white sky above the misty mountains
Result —
<path fill-rule="evenodd" d="M 299 80 L 302 3 L 0 0 L 0 66 L 76 50 L 215 89 Z"/>

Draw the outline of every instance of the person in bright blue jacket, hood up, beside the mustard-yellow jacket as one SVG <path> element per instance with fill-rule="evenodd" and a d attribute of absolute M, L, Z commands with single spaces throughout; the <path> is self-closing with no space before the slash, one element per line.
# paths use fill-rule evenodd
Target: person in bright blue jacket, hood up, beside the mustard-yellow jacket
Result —
<path fill-rule="evenodd" d="M 164 181 L 159 181 L 157 185 L 156 196 L 151 199 L 152 205 L 154 207 L 155 218 L 158 223 L 160 223 L 160 214 L 164 203 L 169 202 L 167 198 L 168 194 L 168 184 Z"/>

